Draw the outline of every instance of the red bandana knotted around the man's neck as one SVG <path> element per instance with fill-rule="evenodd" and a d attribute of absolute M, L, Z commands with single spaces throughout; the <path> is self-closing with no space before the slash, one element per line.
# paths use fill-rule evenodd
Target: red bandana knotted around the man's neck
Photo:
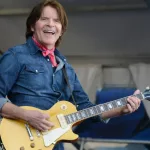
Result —
<path fill-rule="evenodd" d="M 44 57 L 48 56 L 49 59 L 51 60 L 52 66 L 57 67 L 57 62 L 56 62 L 56 58 L 55 58 L 55 55 L 54 55 L 55 47 L 52 48 L 52 49 L 47 49 L 42 44 L 40 44 L 34 37 L 32 37 L 32 39 L 35 42 L 35 44 L 42 50 L 43 56 Z"/>

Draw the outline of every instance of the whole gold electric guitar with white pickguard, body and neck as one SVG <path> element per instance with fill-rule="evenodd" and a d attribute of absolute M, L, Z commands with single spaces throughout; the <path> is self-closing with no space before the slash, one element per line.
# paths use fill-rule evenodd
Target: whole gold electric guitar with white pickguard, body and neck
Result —
<path fill-rule="evenodd" d="M 150 99 L 150 90 L 133 95 L 139 99 Z M 93 116 L 109 110 L 124 107 L 127 104 L 124 97 L 104 104 L 99 104 L 80 111 L 68 101 L 60 101 L 49 110 L 23 106 L 28 110 L 39 110 L 50 115 L 55 126 L 47 132 L 40 132 L 21 120 L 3 118 L 0 125 L 0 135 L 6 150 L 52 150 L 59 141 L 74 141 L 78 135 L 72 132 L 72 126 Z"/>

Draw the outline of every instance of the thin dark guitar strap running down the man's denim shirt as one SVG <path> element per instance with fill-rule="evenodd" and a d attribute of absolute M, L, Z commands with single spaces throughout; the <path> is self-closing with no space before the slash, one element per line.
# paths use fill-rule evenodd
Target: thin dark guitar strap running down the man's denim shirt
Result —
<path fill-rule="evenodd" d="M 69 90 L 70 90 L 70 93 L 71 93 L 71 98 L 72 98 L 72 100 L 73 100 L 73 102 L 74 102 L 76 108 L 78 108 L 78 105 L 76 104 L 75 98 L 74 98 L 74 96 L 73 96 L 73 91 L 72 91 L 72 89 L 71 89 L 71 86 L 70 86 L 70 83 L 69 83 L 69 80 L 68 80 L 68 76 L 67 76 L 67 71 L 66 71 L 65 65 L 64 65 L 64 67 L 62 68 L 62 71 L 63 71 L 64 77 L 65 77 L 65 80 L 66 80 L 66 82 L 67 82 L 67 85 L 68 85 L 68 87 L 69 87 Z"/>

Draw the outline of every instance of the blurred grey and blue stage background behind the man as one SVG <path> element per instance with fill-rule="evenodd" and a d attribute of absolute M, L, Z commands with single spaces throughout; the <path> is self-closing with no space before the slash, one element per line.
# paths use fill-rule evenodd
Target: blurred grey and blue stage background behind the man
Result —
<path fill-rule="evenodd" d="M 93 103 L 99 104 L 106 102 L 105 100 L 126 96 L 137 88 L 144 91 L 145 87 L 150 85 L 150 0 L 58 1 L 65 7 L 69 19 L 69 26 L 59 50 L 75 68 L 83 88 Z M 8 48 L 25 42 L 26 18 L 31 8 L 38 2 L 40 0 L 0 1 L 1 54 Z M 105 94 L 106 90 L 107 94 Z M 108 91 L 113 94 L 116 91 L 118 93 L 115 93 L 116 97 L 112 96 L 109 99 Z M 120 94 L 120 97 L 117 97 L 117 94 Z M 117 119 L 112 119 L 115 123 L 114 128 L 112 126 L 106 128 L 110 135 L 100 133 L 96 136 L 91 134 L 87 136 L 81 133 L 83 138 L 92 138 L 92 144 L 91 141 L 90 144 L 86 142 L 84 148 L 81 147 L 81 143 L 76 148 L 72 144 L 65 144 L 66 150 L 148 149 L 150 102 L 143 101 L 141 107 L 143 116 L 139 115 L 140 112 L 133 116 L 134 119 L 137 115 L 140 116 L 137 118 L 139 122 L 136 125 L 133 118 L 128 120 L 126 117 L 124 119 L 127 120 L 122 119 L 121 122 L 125 124 L 130 121 L 130 125 L 135 125 L 132 131 L 137 131 L 137 127 L 141 127 L 140 123 L 144 122 L 143 118 L 145 119 L 146 116 L 146 125 L 137 132 L 140 133 L 146 129 L 146 134 L 138 139 L 140 141 L 133 141 L 134 144 L 126 141 L 123 146 L 120 146 L 119 139 L 132 141 L 137 138 L 133 138 L 133 135 L 124 137 L 124 134 L 113 137 L 111 131 L 107 129 L 115 130 L 118 127 L 121 128 L 121 125 Z M 100 126 L 94 128 L 98 130 Z M 105 127 L 102 126 L 101 129 L 103 128 Z M 107 144 L 104 144 L 104 141 L 102 143 L 94 141 L 94 139 L 104 138 L 118 140 L 115 140 L 115 144 L 108 144 L 111 141 Z M 139 147 L 135 143 L 138 143 Z"/>

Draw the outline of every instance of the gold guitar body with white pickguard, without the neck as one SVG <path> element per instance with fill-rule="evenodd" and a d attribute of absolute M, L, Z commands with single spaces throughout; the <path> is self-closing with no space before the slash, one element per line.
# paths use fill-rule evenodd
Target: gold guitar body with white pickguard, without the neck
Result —
<path fill-rule="evenodd" d="M 24 109 L 39 110 L 34 107 Z M 52 150 L 61 140 L 76 140 L 78 135 L 72 132 L 72 124 L 67 124 L 64 115 L 76 112 L 74 105 L 67 101 L 56 103 L 50 110 L 42 111 L 50 115 L 55 126 L 41 133 L 20 120 L 3 118 L 0 125 L 1 139 L 6 150 Z"/>

